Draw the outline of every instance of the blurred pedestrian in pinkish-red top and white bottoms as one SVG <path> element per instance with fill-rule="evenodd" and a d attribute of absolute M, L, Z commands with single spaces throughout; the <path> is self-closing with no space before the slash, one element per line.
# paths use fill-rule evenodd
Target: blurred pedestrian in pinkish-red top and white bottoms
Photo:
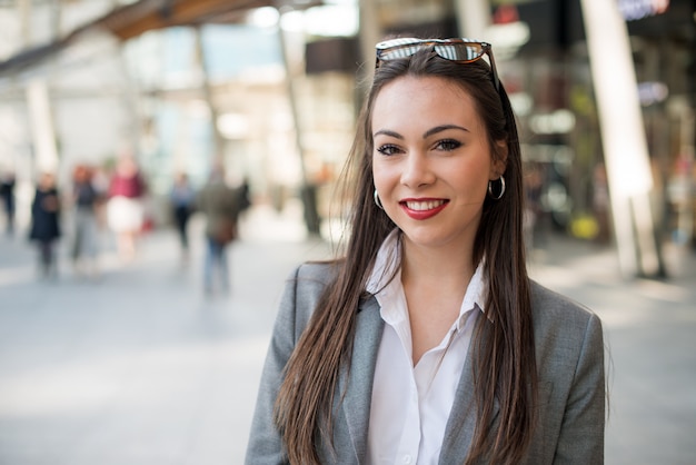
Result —
<path fill-rule="evenodd" d="M 146 184 L 131 155 L 119 158 L 109 185 L 107 222 L 117 235 L 119 256 L 125 261 L 136 257 L 136 240 L 142 230 Z"/>

